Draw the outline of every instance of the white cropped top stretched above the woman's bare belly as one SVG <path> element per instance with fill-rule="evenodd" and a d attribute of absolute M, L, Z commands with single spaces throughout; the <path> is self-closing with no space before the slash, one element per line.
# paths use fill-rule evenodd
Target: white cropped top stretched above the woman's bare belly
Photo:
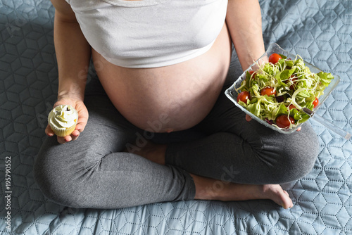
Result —
<path fill-rule="evenodd" d="M 66 0 L 89 44 L 107 61 L 155 68 L 210 49 L 227 0 Z"/>

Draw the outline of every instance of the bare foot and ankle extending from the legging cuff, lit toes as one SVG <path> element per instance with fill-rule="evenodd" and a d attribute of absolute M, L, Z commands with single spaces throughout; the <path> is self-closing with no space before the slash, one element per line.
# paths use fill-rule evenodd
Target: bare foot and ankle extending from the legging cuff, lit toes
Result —
<path fill-rule="evenodd" d="M 191 176 L 196 184 L 195 199 L 220 201 L 270 199 L 285 209 L 293 206 L 289 193 L 284 191 L 279 184 L 234 184 L 194 174 Z"/>

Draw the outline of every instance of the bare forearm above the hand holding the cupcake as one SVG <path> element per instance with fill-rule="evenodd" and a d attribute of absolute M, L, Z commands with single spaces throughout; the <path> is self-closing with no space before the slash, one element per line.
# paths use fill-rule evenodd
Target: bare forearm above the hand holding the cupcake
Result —
<path fill-rule="evenodd" d="M 56 13 L 54 44 L 58 61 L 58 99 L 70 96 L 84 99 L 91 47 L 75 20 Z"/>

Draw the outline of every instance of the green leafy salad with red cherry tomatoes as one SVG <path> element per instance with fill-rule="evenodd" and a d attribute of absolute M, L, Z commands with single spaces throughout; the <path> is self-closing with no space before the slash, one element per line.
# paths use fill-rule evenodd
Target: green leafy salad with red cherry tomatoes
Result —
<path fill-rule="evenodd" d="M 318 106 L 333 79 L 327 72 L 310 72 L 300 56 L 291 59 L 272 53 L 269 63 L 246 72 L 246 79 L 236 89 L 237 102 L 279 129 L 292 129 L 310 118 L 302 108 Z"/>

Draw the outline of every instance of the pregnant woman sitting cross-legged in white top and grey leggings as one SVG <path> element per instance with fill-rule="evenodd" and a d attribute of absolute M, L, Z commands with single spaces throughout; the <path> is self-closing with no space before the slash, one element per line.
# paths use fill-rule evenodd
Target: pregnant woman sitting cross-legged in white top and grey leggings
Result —
<path fill-rule="evenodd" d="M 224 95 L 265 51 L 257 0 L 51 1 L 54 107 L 74 107 L 78 122 L 57 138 L 46 127 L 34 164 L 45 196 L 73 208 L 258 198 L 293 206 L 279 184 L 313 167 L 313 129 L 279 134 Z M 107 96 L 84 97 L 90 58 Z M 189 132 L 201 135 L 153 141 Z"/>

